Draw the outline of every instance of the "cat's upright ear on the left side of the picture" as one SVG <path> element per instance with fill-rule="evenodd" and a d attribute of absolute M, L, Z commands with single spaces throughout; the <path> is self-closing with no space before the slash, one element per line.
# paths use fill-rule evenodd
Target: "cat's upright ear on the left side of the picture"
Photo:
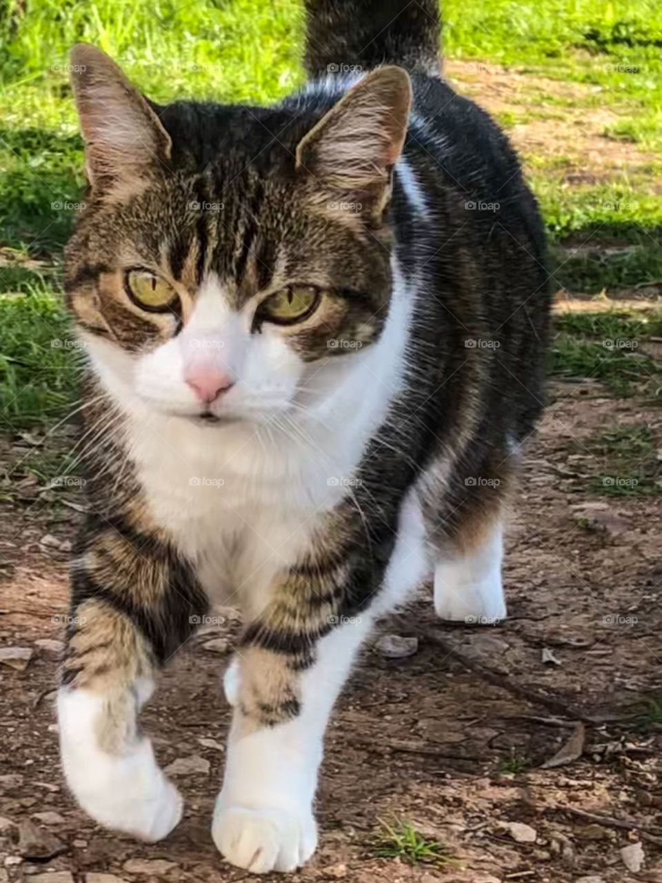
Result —
<path fill-rule="evenodd" d="M 71 49 L 71 88 L 95 190 L 127 185 L 167 162 L 172 143 L 159 117 L 101 49 Z"/>

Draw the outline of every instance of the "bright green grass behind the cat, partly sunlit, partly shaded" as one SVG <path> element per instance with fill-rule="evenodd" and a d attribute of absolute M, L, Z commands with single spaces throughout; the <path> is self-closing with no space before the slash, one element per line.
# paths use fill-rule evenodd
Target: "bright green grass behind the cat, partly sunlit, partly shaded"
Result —
<path fill-rule="evenodd" d="M 588 183 L 568 183 L 568 173 L 582 162 L 572 143 L 563 146 L 563 155 L 523 157 L 553 240 L 554 279 L 569 291 L 596 293 L 662 280 L 657 9 L 658 0 L 443 4 L 448 57 L 507 65 L 530 79 L 529 93 L 521 99 L 514 94 L 515 109 L 500 115 L 507 129 L 530 120 L 553 125 L 568 113 L 609 107 L 617 118 L 606 123 L 606 137 L 648 157 L 633 170 Z M 64 69 L 71 45 L 101 47 L 158 102 L 193 96 L 264 103 L 302 81 L 302 38 L 302 4 L 295 0 L 3 4 L 0 418 L 5 423 L 46 423 L 61 416 L 75 396 L 76 354 L 50 347 L 51 339 L 66 334 L 57 292 L 61 249 L 75 210 L 63 207 L 85 199 L 82 143 Z M 568 249 L 586 239 L 597 247 Z M 622 249 L 606 253 L 603 246 L 614 242 Z M 606 354 L 595 345 L 599 334 L 557 328 L 553 366 L 560 374 L 596 376 L 622 392 L 638 389 L 646 372 L 657 372 L 658 366 L 623 352 Z M 654 394 L 652 386 L 647 389 Z"/>

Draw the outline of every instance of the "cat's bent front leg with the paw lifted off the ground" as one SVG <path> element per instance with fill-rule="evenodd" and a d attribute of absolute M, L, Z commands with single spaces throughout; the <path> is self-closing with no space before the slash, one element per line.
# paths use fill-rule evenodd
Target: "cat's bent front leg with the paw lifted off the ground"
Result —
<path fill-rule="evenodd" d="M 156 763 L 139 711 L 155 668 L 184 643 L 206 600 L 184 562 L 154 538 L 89 533 L 71 573 L 57 695 L 64 775 L 93 819 L 158 841 L 181 819 L 183 801 Z"/>

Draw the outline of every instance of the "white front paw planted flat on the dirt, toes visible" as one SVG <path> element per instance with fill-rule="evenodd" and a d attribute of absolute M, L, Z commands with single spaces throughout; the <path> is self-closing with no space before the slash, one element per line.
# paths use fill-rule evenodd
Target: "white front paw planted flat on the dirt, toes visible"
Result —
<path fill-rule="evenodd" d="M 212 837 L 230 864 L 254 874 L 296 871 L 317 846 L 312 812 L 223 807 L 220 797 L 214 810 Z"/>

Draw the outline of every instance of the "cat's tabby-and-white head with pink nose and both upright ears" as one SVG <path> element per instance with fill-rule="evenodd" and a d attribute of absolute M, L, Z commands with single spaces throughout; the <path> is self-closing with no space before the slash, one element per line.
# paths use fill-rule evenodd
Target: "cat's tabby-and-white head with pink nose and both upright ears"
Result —
<path fill-rule="evenodd" d="M 91 193 L 68 303 L 106 389 L 188 419 L 268 419 L 380 336 L 410 82 L 383 67 L 326 111 L 148 102 L 72 52 Z"/>

